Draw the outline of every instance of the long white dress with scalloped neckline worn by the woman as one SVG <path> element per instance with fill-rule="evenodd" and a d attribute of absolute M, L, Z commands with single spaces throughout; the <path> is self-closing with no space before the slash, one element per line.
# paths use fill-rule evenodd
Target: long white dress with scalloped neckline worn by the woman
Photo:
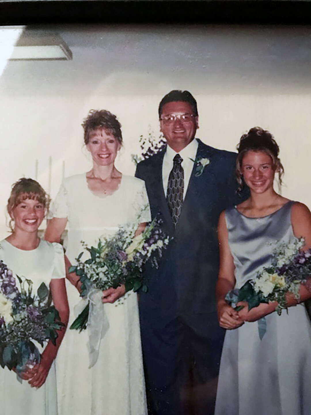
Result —
<path fill-rule="evenodd" d="M 83 250 L 81 241 L 97 244 L 119 226 L 133 223 L 148 206 L 145 183 L 122 176 L 119 188 L 105 197 L 94 195 L 85 173 L 66 178 L 53 203 L 50 217 L 68 218 L 66 255 L 72 264 Z M 151 220 L 149 207 L 141 222 Z M 67 282 L 70 322 L 80 301 Z M 109 329 L 101 340 L 98 360 L 88 368 L 87 332 L 67 330 L 57 359 L 60 415 L 145 415 L 146 393 L 141 353 L 138 303 L 130 293 L 123 304 L 104 304 Z"/>

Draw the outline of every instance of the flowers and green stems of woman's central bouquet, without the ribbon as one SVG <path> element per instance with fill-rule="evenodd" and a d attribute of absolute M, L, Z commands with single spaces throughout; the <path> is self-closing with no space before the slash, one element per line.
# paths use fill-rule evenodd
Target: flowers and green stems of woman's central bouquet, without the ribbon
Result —
<path fill-rule="evenodd" d="M 91 294 L 96 291 L 101 294 L 102 290 L 117 288 L 121 284 L 125 285 L 126 292 L 148 290 L 143 278 L 143 265 L 151 261 L 157 266 L 157 256 L 162 256 L 169 238 L 163 234 L 157 218 L 138 236 L 134 235 L 136 229 L 137 223 L 120 227 L 112 237 L 101 237 L 97 247 L 87 247 L 83 243 L 90 258 L 83 262 L 81 252 L 76 259 L 77 265 L 71 266 L 69 272 L 79 276 L 81 296 L 87 297 L 88 302 L 70 329 L 81 332 L 90 324 L 90 306 L 95 302 Z"/>

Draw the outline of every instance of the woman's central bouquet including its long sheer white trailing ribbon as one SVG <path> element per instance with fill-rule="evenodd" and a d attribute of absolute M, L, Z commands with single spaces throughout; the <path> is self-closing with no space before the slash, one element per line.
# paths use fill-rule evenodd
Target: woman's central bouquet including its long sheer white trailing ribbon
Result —
<path fill-rule="evenodd" d="M 101 237 L 97 247 L 87 247 L 82 242 L 90 257 L 83 262 L 81 258 L 84 251 L 81 252 L 76 259 L 77 264 L 69 268 L 69 272 L 75 272 L 82 283 L 82 300 L 74 310 L 78 317 L 70 329 L 81 332 L 87 328 L 89 367 L 96 363 L 100 340 L 109 329 L 109 321 L 102 304 L 102 291 L 124 284 L 126 295 L 117 300 L 116 305 L 127 301 L 130 291 L 136 292 L 141 289 L 146 292 L 148 287 L 143 266 L 148 261 L 153 266 L 158 266 L 158 259 L 169 243 L 169 238 L 163 234 L 157 218 L 146 226 L 141 234 L 135 236 L 140 222 L 138 215 L 135 223 L 119 227 L 109 238 Z"/>

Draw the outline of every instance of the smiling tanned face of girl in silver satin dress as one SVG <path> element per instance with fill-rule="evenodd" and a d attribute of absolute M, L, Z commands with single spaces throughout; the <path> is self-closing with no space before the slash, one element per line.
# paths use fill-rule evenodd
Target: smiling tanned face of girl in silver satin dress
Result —
<path fill-rule="evenodd" d="M 248 151 L 242 160 L 242 173 L 251 191 L 264 193 L 273 188 L 275 166 L 265 151 Z"/>

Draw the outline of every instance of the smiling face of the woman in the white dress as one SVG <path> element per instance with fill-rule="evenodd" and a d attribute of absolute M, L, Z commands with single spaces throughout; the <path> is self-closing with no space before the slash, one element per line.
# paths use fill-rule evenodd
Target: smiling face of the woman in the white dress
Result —
<path fill-rule="evenodd" d="M 98 166 L 113 164 L 120 148 L 118 140 L 103 128 L 97 128 L 89 134 L 87 149 Z"/>

